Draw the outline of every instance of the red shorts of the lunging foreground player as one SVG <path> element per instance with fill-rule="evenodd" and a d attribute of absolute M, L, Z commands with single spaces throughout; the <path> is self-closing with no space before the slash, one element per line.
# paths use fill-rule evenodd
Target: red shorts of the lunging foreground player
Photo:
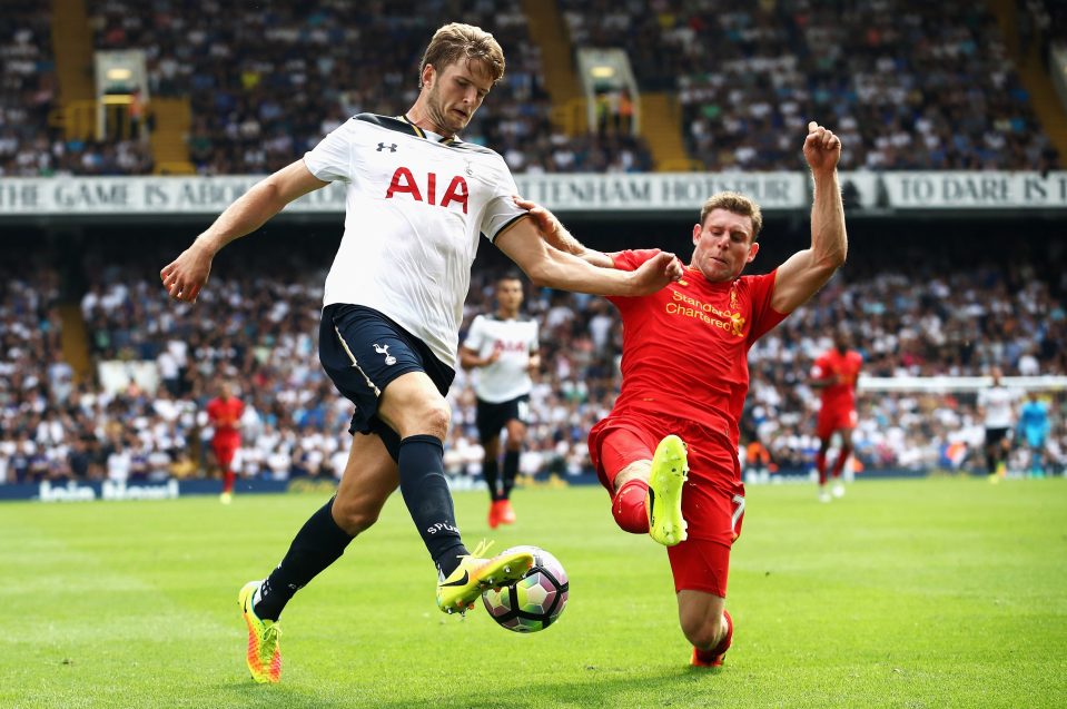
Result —
<path fill-rule="evenodd" d="M 688 539 L 668 549 L 674 590 L 725 598 L 730 548 L 744 521 L 741 464 L 729 440 L 684 418 L 612 414 L 590 431 L 590 457 L 601 484 L 613 494 L 615 475 L 634 461 L 652 460 L 655 446 L 671 433 L 685 442 L 689 459 L 682 491 Z"/>

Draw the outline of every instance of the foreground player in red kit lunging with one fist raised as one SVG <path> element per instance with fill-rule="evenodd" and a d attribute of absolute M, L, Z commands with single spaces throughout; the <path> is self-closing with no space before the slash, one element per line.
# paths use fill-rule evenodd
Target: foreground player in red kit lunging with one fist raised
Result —
<path fill-rule="evenodd" d="M 648 296 L 610 298 L 623 319 L 622 391 L 590 432 L 590 456 L 619 526 L 668 546 L 694 666 L 721 666 L 733 638 L 727 574 L 744 515 L 738 443 L 749 348 L 821 288 L 848 250 L 841 141 L 811 121 L 803 154 L 814 179 L 810 248 L 770 274 L 742 276 L 759 252 L 762 216 L 749 198 L 719 193 L 693 227 L 681 280 Z M 543 207 L 518 205 L 531 209 L 550 244 L 594 265 L 632 270 L 656 253 L 589 249 Z"/>

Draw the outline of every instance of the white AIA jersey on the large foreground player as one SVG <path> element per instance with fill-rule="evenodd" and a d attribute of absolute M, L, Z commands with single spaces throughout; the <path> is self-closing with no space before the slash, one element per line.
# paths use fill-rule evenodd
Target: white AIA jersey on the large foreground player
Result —
<path fill-rule="evenodd" d="M 525 211 L 504 159 L 402 118 L 359 114 L 304 156 L 348 186 L 345 235 L 323 305 L 372 307 L 455 368 L 478 235 L 491 242 Z"/>

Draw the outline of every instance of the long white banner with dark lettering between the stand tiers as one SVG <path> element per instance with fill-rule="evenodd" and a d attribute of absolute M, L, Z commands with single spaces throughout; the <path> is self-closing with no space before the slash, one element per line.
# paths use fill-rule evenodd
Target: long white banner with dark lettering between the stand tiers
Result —
<path fill-rule="evenodd" d="M 0 219 L 105 217 L 145 221 L 161 215 L 217 215 L 263 178 L 219 177 L 10 177 L 0 178 Z M 1067 209 L 1067 170 L 1036 171 L 842 171 L 849 207 L 873 215 L 893 210 Z M 516 175 L 518 191 L 563 211 L 679 211 L 700 209 L 711 194 L 732 189 L 757 199 L 764 211 L 810 208 L 810 176 L 775 173 L 632 173 Z M 340 183 L 305 195 L 288 215 L 345 211 Z"/>

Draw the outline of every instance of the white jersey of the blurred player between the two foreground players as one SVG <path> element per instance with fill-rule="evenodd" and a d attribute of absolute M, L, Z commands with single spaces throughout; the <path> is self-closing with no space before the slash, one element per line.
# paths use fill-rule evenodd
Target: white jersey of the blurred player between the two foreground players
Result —
<path fill-rule="evenodd" d="M 478 315 L 471 323 L 463 346 L 480 357 L 500 351 L 493 364 L 478 367 L 474 393 L 484 402 L 500 404 L 528 394 L 530 355 L 537 352 L 537 321 L 533 318 L 501 319 L 496 315 Z"/>

